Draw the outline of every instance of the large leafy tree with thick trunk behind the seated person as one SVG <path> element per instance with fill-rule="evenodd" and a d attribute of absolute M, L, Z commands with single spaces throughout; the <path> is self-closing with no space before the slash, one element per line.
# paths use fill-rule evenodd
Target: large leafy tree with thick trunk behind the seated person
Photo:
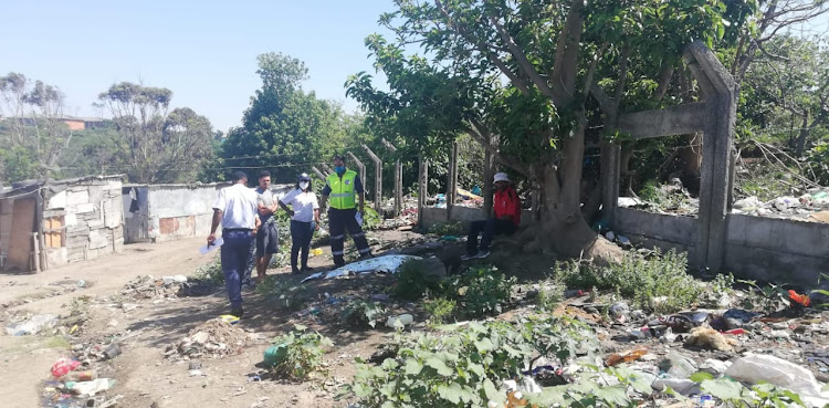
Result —
<path fill-rule="evenodd" d="M 588 121 L 599 115 L 588 95 L 606 102 L 612 128 L 632 73 L 658 72 L 702 40 L 735 40 L 751 1 L 716 0 L 434 0 L 396 1 L 381 17 L 393 41 L 367 44 L 390 91 L 370 75 L 349 81 L 349 94 L 403 138 L 473 136 L 543 195 L 533 250 L 602 255 L 581 215 Z M 405 56 L 411 44 L 422 56 Z M 629 66 L 637 62 L 647 66 Z M 649 67 L 650 70 L 647 70 Z M 612 87 L 608 96 L 601 88 Z M 386 119 L 382 119 L 382 118 Z M 541 232 L 541 233 L 538 233 Z M 553 238 L 553 239 L 550 239 Z"/>

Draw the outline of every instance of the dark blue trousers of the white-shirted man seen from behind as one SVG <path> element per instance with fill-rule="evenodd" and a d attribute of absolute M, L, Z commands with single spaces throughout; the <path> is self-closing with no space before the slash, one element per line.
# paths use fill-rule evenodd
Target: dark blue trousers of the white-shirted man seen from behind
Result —
<path fill-rule="evenodd" d="M 221 248 L 222 272 L 224 272 L 224 287 L 228 289 L 230 307 L 242 307 L 242 278 L 251 257 L 252 231 L 224 230 L 224 244 Z"/>

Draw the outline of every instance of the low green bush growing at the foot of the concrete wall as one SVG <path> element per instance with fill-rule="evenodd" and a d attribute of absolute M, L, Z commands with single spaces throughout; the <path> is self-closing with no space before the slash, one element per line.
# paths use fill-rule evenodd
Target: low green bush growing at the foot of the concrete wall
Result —
<path fill-rule="evenodd" d="M 647 260 L 627 254 L 621 263 L 600 269 L 577 262 L 556 265 L 559 278 L 571 289 L 612 290 L 633 300 L 636 307 L 673 313 L 696 302 L 704 286 L 688 274 L 688 258 L 671 250 Z"/>

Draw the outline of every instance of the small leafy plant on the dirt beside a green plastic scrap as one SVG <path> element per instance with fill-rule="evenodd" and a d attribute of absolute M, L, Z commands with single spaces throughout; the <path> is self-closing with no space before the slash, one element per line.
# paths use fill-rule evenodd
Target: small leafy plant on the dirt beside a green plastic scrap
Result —
<path fill-rule="evenodd" d="M 306 379 L 314 373 L 326 374 L 323 355 L 334 343 L 328 337 L 306 326 L 296 325 L 288 334 L 279 336 L 273 343 L 281 348 L 272 370 L 291 379 Z"/>

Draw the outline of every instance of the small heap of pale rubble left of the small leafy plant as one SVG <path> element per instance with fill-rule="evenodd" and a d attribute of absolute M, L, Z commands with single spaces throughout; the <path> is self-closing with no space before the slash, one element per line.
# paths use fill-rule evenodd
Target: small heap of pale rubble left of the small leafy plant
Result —
<path fill-rule="evenodd" d="M 164 355 L 170 359 L 217 358 L 240 354 L 244 346 L 261 342 L 258 334 L 248 333 L 222 318 L 214 318 L 190 331 L 177 344 L 167 346 Z"/>

